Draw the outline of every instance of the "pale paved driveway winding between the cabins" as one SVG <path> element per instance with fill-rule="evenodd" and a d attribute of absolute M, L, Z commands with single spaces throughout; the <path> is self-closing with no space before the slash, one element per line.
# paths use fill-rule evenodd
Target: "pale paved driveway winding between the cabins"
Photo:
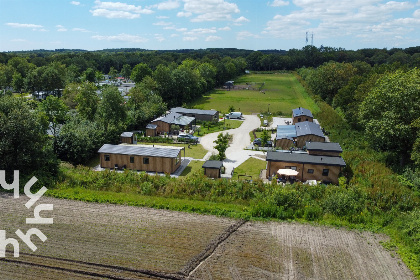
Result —
<path fill-rule="evenodd" d="M 238 167 L 251 156 L 263 154 L 263 152 L 260 151 L 244 150 L 251 143 L 249 133 L 261 126 L 261 121 L 256 115 L 246 115 L 244 118 L 245 120 L 240 127 L 223 131 L 223 133 L 227 132 L 233 135 L 232 143 L 226 150 L 226 159 L 223 161 L 223 165 L 226 168 L 226 174 L 231 174 L 233 168 Z M 214 146 L 216 145 L 214 140 L 217 139 L 219 133 L 220 132 L 210 133 L 201 138 L 200 144 L 209 151 L 205 156 L 205 159 L 208 159 L 211 154 L 218 153 L 214 149 Z"/>

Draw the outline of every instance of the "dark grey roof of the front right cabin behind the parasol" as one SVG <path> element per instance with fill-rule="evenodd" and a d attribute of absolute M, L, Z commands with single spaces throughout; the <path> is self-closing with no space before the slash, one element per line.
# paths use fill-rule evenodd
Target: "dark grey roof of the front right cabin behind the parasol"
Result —
<path fill-rule="evenodd" d="M 346 166 L 342 157 L 316 156 L 301 153 L 267 152 L 267 161 Z"/>

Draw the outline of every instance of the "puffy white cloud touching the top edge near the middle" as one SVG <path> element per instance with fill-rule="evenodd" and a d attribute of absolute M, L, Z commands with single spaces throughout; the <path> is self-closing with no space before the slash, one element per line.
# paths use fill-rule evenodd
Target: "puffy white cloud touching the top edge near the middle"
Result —
<path fill-rule="evenodd" d="M 230 21 L 232 14 L 239 13 L 235 3 L 224 0 L 183 0 L 185 14 L 197 15 L 192 22 L 203 21 Z M 178 13 L 178 16 L 185 16 Z"/>

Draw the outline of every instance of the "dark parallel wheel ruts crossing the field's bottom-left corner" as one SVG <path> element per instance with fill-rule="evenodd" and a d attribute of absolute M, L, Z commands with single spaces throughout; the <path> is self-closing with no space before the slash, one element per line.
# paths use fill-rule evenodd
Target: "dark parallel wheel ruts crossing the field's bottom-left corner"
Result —
<path fill-rule="evenodd" d="M 7 253 L 12 253 L 12 251 L 6 250 Z M 134 269 L 134 268 L 128 268 L 128 267 L 123 267 L 123 266 L 117 266 L 117 265 L 107 265 L 107 264 L 99 264 L 99 263 L 91 263 L 91 262 L 84 262 L 84 261 L 78 261 L 78 260 L 71 260 L 71 259 L 64 259 L 64 258 L 57 258 L 57 257 L 51 257 L 51 256 L 42 256 L 42 255 L 35 255 L 35 254 L 28 254 L 28 253 L 20 253 L 23 256 L 28 256 L 28 257 L 35 257 L 35 258 L 39 258 L 39 259 L 50 259 L 50 260 L 56 260 L 56 261 L 61 261 L 61 262 L 67 262 L 67 263 L 74 263 L 74 264 L 81 264 L 81 265 L 85 265 L 91 268 L 106 268 L 106 269 L 110 269 L 113 270 L 114 272 L 116 271 L 122 271 L 122 272 L 132 272 L 132 273 L 138 273 L 138 274 L 143 274 L 146 276 L 152 276 L 152 277 L 158 277 L 158 278 L 162 278 L 162 279 L 170 279 L 170 280 L 182 280 L 185 277 L 183 275 L 178 275 L 178 273 L 168 273 L 168 272 L 161 272 L 161 271 L 153 271 L 153 270 L 148 270 L 148 269 Z M 4 258 L 0 258 L 0 261 L 4 261 L 4 262 L 12 262 L 12 263 L 21 263 L 24 265 L 28 265 L 28 266 L 36 266 L 36 267 L 42 267 L 42 268 L 47 268 L 47 269 L 54 269 L 54 270 L 61 270 L 61 271 L 67 271 L 67 272 L 72 272 L 72 273 L 77 273 L 77 274 L 83 274 L 83 275 L 90 275 L 90 276 L 98 276 L 98 277 L 105 277 L 105 278 L 109 278 L 109 279 L 116 279 L 116 280 L 126 280 L 126 279 L 132 279 L 132 278 L 121 278 L 118 276 L 112 276 L 112 275 L 107 275 L 107 274 L 99 274 L 99 273 L 95 273 L 95 272 L 89 272 L 89 271 L 83 271 L 83 270 L 78 270 L 78 269 L 69 269 L 69 268 L 63 268 L 63 267 L 59 267 L 59 266 L 49 266 L 49 265 L 43 265 L 43 264 L 38 264 L 38 263 L 32 263 L 30 261 L 20 261 L 20 260 L 13 260 L 13 259 L 4 259 Z M 97 274 L 97 275 L 91 275 L 91 274 Z M 139 275 L 139 277 L 141 277 L 141 275 Z M 139 278 L 141 279 L 141 278 Z"/>

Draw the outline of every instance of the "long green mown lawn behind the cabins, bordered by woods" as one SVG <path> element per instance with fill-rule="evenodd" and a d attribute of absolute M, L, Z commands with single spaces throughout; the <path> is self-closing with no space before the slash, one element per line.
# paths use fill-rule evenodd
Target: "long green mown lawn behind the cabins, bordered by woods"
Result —
<path fill-rule="evenodd" d="M 304 107 L 313 114 L 319 111 L 293 74 L 250 74 L 235 81 L 235 85 L 250 84 L 253 89 L 214 90 L 190 104 L 197 109 L 227 112 L 229 106 L 243 114 L 270 111 L 275 115 L 291 116 L 292 109 Z M 262 83 L 265 83 L 259 91 Z"/>

